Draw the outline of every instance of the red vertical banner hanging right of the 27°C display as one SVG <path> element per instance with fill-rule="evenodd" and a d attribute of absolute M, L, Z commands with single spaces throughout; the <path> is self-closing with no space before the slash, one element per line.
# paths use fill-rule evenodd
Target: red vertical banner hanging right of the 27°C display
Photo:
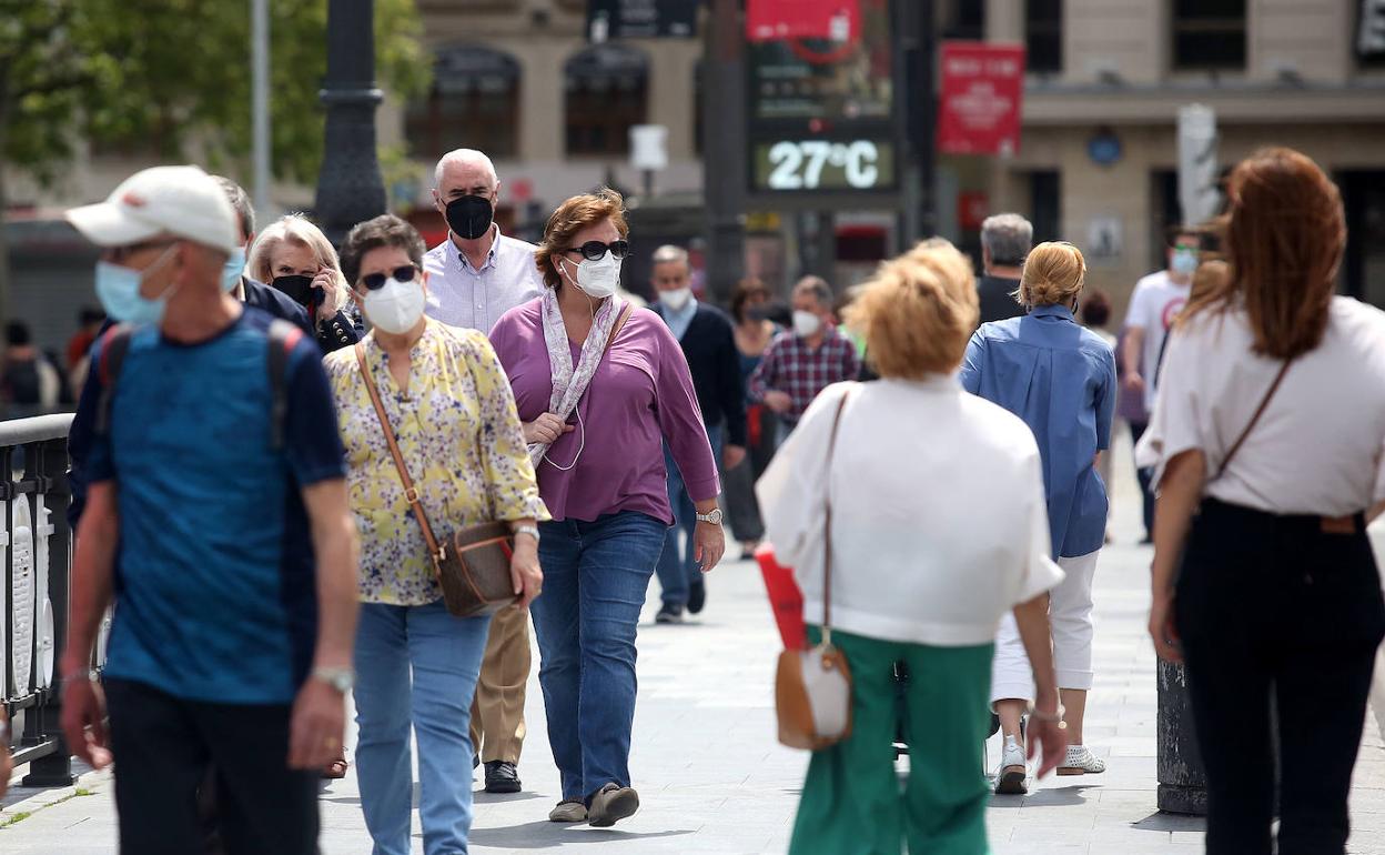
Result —
<path fill-rule="evenodd" d="M 1018 152 L 1024 91 L 1024 46 L 943 42 L 938 151 Z"/>

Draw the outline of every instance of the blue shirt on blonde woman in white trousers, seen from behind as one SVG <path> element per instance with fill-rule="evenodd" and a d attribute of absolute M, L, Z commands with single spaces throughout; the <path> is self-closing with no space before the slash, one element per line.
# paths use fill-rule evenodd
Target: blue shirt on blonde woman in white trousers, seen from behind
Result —
<path fill-rule="evenodd" d="M 1025 420 L 1039 442 L 1054 557 L 1101 549 L 1107 486 L 1091 466 L 1111 448 L 1116 362 L 1066 306 L 982 324 L 967 345 L 961 384 Z"/>

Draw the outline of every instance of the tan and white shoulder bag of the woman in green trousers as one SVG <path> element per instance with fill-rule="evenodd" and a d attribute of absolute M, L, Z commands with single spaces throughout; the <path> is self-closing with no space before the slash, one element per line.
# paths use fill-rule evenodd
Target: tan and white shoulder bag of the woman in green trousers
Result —
<path fill-rule="evenodd" d="M 831 475 L 837 428 L 842 423 L 848 394 L 837 405 L 832 438 L 827 446 L 827 473 Z M 778 712 L 778 739 L 789 748 L 821 751 L 852 733 L 852 672 L 846 655 L 832 646 L 832 495 L 827 491 L 827 515 L 823 520 L 823 643 L 810 650 L 785 650 L 780 654 L 774 678 L 774 708 Z"/>

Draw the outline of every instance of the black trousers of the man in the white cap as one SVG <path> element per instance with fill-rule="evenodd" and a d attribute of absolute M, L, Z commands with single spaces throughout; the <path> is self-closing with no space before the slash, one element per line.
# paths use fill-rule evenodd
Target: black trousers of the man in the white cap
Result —
<path fill-rule="evenodd" d="M 204 851 L 198 788 L 216 769 L 229 855 L 316 855 L 317 772 L 288 768 L 289 707 L 186 701 L 105 680 L 122 855 Z"/>

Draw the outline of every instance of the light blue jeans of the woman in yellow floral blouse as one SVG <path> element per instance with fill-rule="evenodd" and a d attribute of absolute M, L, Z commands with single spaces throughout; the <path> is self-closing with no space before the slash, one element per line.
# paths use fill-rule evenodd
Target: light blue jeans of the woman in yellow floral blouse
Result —
<path fill-rule="evenodd" d="M 490 618 L 428 606 L 364 603 L 356 629 L 356 777 L 374 855 L 409 855 L 418 741 L 418 818 L 428 855 L 467 852 L 471 830 L 471 696 Z M 410 679 L 410 672 L 413 672 Z"/>

